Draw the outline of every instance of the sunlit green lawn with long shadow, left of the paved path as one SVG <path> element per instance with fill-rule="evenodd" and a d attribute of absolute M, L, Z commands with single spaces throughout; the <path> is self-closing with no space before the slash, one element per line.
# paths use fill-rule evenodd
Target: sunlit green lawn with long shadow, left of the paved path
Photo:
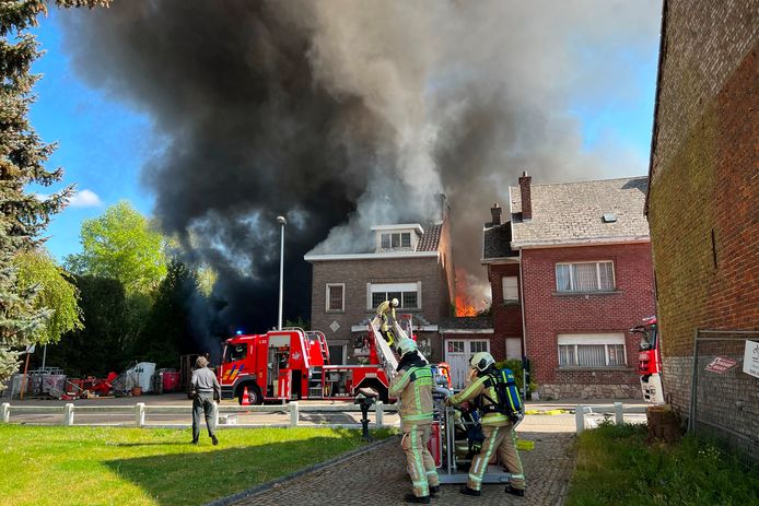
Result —
<path fill-rule="evenodd" d="M 387 437 L 388 429 L 374 433 Z M 0 425 L 0 504 L 194 505 L 362 446 L 360 431 L 190 431 Z"/>

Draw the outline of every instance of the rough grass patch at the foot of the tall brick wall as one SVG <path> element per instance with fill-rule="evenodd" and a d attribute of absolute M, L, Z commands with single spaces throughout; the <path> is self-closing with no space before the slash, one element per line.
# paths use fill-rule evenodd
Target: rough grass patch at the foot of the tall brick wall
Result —
<path fill-rule="evenodd" d="M 759 504 L 759 475 L 714 444 L 687 436 L 646 445 L 646 435 L 629 424 L 583 432 L 568 506 Z"/>

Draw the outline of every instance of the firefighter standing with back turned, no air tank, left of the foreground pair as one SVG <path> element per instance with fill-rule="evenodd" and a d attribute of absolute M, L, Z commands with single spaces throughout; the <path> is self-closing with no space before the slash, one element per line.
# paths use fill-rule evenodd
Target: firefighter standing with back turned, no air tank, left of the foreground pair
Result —
<path fill-rule="evenodd" d="M 435 461 L 428 450 L 432 427 L 432 370 L 419 354 L 416 341 L 398 344 L 400 363 L 390 385 L 390 397 L 400 400 L 400 421 L 408 472 L 413 486 L 407 503 L 429 504 L 430 494 L 440 492 Z"/>

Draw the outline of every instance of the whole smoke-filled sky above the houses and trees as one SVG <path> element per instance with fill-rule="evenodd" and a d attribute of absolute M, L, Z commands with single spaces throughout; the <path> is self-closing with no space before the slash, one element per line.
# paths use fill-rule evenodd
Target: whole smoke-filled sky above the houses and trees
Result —
<path fill-rule="evenodd" d="M 225 318 L 261 330 L 277 318 L 279 214 L 284 316 L 308 318 L 305 252 L 428 221 L 437 192 L 478 298 L 482 223 L 522 170 L 645 174 L 659 19 L 658 0 L 115 0 L 43 23 L 75 84 L 51 95 L 101 126 L 72 140 L 91 156 L 73 180 L 149 202 L 219 270 Z"/>

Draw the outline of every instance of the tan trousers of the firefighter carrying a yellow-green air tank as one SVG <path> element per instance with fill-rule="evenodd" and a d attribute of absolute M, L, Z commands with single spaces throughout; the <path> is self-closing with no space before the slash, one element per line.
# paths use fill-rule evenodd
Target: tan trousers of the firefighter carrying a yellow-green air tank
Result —
<path fill-rule="evenodd" d="M 482 442 L 480 452 L 471 460 L 467 486 L 476 491 L 482 487 L 482 476 L 488 472 L 488 463 L 493 452 L 497 452 L 501 463 L 511 473 L 509 483 L 514 489 L 524 490 L 525 475 L 519 454 L 516 451 L 516 434 L 511 424 L 501 427 L 482 425 L 482 433 L 484 434 L 484 440 Z"/>

